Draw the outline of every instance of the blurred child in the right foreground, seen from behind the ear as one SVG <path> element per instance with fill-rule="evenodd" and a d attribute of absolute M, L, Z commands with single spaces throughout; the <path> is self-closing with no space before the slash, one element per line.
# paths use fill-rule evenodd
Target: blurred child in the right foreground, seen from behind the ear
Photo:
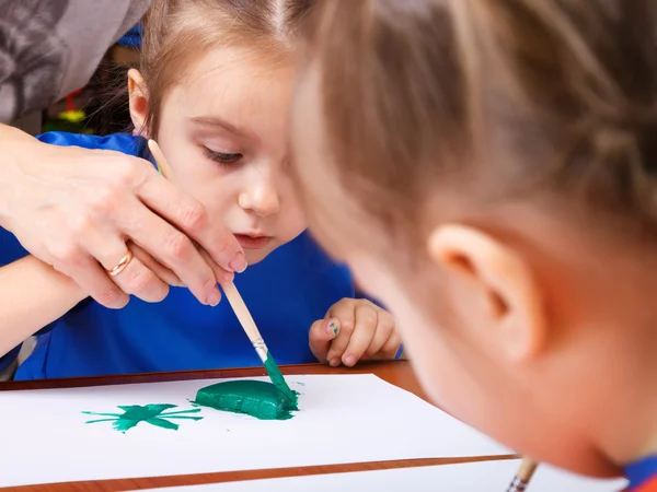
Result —
<path fill-rule="evenodd" d="M 442 408 L 657 491 L 657 3 L 323 5 L 293 102 L 311 230 Z"/>

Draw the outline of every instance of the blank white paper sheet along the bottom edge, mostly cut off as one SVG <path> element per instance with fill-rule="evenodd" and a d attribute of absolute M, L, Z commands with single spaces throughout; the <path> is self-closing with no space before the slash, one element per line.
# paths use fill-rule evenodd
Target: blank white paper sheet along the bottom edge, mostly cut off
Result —
<path fill-rule="evenodd" d="M 172 487 L 157 490 L 162 492 L 400 492 L 407 490 L 413 492 L 489 492 L 506 490 L 519 465 L 520 460 L 470 462 Z M 531 492 L 618 492 L 625 485 L 625 480 L 591 480 L 541 466 L 537 470 L 529 490 Z"/>

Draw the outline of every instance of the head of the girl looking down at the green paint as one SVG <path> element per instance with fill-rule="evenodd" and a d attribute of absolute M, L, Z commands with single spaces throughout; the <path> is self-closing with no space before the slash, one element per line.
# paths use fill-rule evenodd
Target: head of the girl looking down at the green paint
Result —
<path fill-rule="evenodd" d="M 306 227 L 288 177 L 297 26 L 309 0 L 157 0 L 139 71 L 136 131 L 158 141 L 175 180 L 222 216 L 249 263 Z"/>

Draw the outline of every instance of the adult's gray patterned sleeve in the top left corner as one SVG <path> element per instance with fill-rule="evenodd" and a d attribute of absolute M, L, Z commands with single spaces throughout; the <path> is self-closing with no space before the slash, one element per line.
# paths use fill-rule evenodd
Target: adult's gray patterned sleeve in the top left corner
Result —
<path fill-rule="evenodd" d="M 150 0 L 0 0 L 0 121 L 82 87 Z"/>

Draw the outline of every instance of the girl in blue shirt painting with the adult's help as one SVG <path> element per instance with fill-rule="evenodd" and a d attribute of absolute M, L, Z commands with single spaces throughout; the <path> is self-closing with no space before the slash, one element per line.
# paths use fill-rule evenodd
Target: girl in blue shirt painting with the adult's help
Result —
<path fill-rule="evenodd" d="M 130 114 L 136 133 L 160 143 L 175 181 L 241 242 L 250 267 L 235 284 L 277 362 L 353 365 L 394 358 L 400 341 L 392 317 L 351 298 L 348 271 L 303 233 L 287 177 L 296 31 L 309 4 L 155 1 L 141 69 L 129 73 Z M 151 159 L 145 138 L 130 134 L 41 140 Z M 119 286 L 140 261 L 137 245 L 127 247 L 134 255 L 115 270 Z M 18 379 L 260 364 L 228 302 L 204 306 L 177 288 L 160 303 L 134 298 L 111 311 L 25 255 L 0 234 L 0 353 L 49 324 Z M 4 365 L 13 358 L 15 350 Z"/>

